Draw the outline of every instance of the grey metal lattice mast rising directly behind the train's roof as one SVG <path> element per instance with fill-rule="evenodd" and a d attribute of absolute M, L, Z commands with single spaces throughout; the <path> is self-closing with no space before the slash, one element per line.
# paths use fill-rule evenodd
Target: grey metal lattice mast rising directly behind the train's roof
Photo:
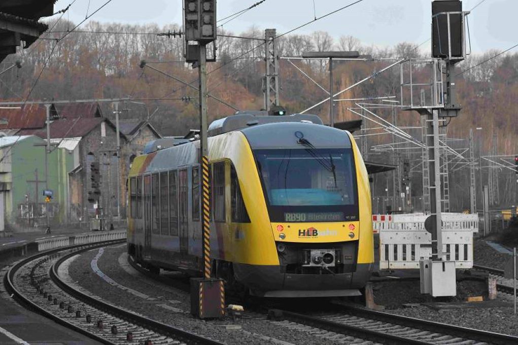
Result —
<path fill-rule="evenodd" d="M 265 62 L 264 76 L 264 109 L 270 110 L 272 105 L 279 105 L 279 56 L 277 55 L 276 30 L 265 30 Z"/>

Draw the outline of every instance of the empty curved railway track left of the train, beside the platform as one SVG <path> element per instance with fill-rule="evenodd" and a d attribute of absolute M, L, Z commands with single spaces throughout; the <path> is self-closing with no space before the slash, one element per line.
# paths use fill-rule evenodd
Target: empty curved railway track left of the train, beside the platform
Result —
<path fill-rule="evenodd" d="M 110 240 L 54 249 L 25 258 L 4 277 L 6 291 L 25 307 L 105 344 L 210 344 L 219 341 L 160 323 L 68 285 L 60 265 L 82 252 L 123 243 Z"/>

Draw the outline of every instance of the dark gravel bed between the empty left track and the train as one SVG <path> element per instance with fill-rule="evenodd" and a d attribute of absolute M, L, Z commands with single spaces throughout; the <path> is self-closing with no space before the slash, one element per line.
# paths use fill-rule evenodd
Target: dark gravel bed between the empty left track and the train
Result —
<path fill-rule="evenodd" d="M 93 294 L 114 304 L 139 312 L 147 317 L 164 322 L 175 327 L 183 328 L 197 334 L 210 336 L 213 339 L 227 344 L 265 344 L 278 345 L 287 343 L 296 344 L 333 344 L 334 342 L 312 336 L 306 332 L 280 327 L 266 320 L 263 315 L 245 313 L 241 320 L 235 324 L 242 329 L 226 329 L 224 325 L 234 324 L 231 319 L 224 320 L 197 320 L 190 314 L 189 294 L 174 287 L 166 286 L 149 278 L 130 275 L 119 264 L 119 257 L 125 252 L 126 247 L 107 247 L 99 258 L 99 269 L 117 283 L 130 289 L 145 294 L 150 298 L 143 298 L 128 293 L 119 287 L 108 284 L 91 268 L 91 261 L 98 254 L 98 250 L 84 253 L 77 258 L 69 268 L 72 279 Z M 171 303 L 172 301 L 172 303 Z M 173 312 L 161 307 L 178 308 L 182 311 Z M 272 338 L 272 339 L 271 339 Z"/>

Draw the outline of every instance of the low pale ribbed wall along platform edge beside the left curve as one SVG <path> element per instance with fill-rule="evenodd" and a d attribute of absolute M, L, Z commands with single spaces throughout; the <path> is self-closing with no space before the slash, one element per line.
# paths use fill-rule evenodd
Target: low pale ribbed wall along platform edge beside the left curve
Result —
<path fill-rule="evenodd" d="M 84 243 L 93 243 L 100 241 L 109 241 L 116 239 L 126 238 L 125 230 L 118 231 L 105 231 L 105 232 L 97 232 L 97 233 L 86 233 L 79 235 L 70 235 L 63 237 L 52 237 L 37 240 L 38 243 L 38 251 L 44 251 L 54 248 L 66 247 L 66 246 L 74 246 L 74 245 L 83 245 Z"/>

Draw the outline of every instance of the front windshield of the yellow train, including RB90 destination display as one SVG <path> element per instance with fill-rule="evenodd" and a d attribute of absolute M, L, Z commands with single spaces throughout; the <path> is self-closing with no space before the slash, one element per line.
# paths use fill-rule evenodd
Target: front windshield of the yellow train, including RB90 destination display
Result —
<path fill-rule="evenodd" d="M 272 221 L 352 221 L 358 195 L 351 149 L 256 150 Z"/>

